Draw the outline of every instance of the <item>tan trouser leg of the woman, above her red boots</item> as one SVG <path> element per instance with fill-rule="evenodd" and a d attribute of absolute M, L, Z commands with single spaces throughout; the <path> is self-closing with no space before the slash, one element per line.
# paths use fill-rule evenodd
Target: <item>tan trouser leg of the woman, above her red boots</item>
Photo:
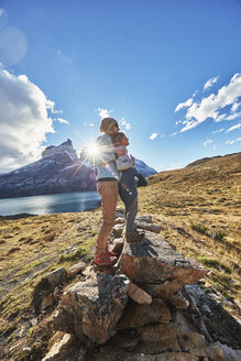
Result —
<path fill-rule="evenodd" d="M 110 232 L 114 225 L 118 198 L 118 182 L 97 182 L 97 190 L 101 196 L 102 225 L 97 238 L 95 255 L 98 255 L 105 251 Z"/>

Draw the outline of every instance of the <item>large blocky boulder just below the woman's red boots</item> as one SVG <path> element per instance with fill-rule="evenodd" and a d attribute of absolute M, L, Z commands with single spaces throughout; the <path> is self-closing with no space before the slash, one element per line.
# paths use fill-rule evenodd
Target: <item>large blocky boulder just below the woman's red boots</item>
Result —
<path fill-rule="evenodd" d="M 105 343 L 116 333 L 114 327 L 128 302 L 128 284 L 123 275 L 92 273 L 62 295 L 54 328 Z"/>

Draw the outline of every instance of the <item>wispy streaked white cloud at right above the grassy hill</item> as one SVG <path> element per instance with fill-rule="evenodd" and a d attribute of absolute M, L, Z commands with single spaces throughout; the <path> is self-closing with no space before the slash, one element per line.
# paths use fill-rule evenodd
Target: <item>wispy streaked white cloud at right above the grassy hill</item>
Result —
<path fill-rule="evenodd" d="M 180 132 L 185 132 L 197 127 L 208 118 L 212 118 L 216 122 L 218 122 L 239 117 L 240 112 L 232 113 L 231 109 L 226 114 L 220 113 L 223 108 L 228 106 L 231 107 L 237 103 L 237 99 L 239 97 L 241 97 L 241 74 L 235 74 L 231 78 L 229 85 L 220 88 L 217 95 L 211 94 L 210 96 L 202 98 L 200 101 L 193 102 L 191 106 L 188 107 L 185 116 L 186 120 L 183 121 L 185 127 L 180 130 Z"/>

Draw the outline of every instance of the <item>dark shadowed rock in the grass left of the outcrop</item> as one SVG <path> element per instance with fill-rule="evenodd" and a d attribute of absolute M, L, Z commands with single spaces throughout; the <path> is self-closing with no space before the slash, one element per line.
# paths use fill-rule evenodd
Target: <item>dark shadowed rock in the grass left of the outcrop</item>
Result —
<path fill-rule="evenodd" d="M 46 274 L 37 284 L 33 292 L 33 300 L 35 313 L 40 313 L 43 298 L 52 293 L 56 286 L 64 284 L 67 281 L 67 271 L 65 267 L 59 267 Z"/>

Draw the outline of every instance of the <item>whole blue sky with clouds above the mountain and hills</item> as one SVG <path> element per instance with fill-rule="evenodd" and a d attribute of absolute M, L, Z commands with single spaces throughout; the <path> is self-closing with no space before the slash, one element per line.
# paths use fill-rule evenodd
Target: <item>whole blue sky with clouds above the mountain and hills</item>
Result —
<path fill-rule="evenodd" d="M 113 117 L 156 171 L 241 151 L 241 0 L 0 0 L 0 172 Z"/>

